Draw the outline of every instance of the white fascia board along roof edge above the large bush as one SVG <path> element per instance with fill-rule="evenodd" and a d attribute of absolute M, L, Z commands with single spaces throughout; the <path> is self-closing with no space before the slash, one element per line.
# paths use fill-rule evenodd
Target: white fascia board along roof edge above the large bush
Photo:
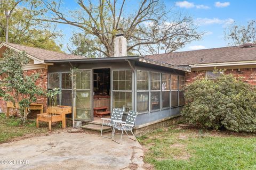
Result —
<path fill-rule="evenodd" d="M 218 66 L 253 65 L 253 64 L 256 64 L 256 61 L 239 61 L 239 62 L 190 64 L 189 66 L 191 68 L 198 68 L 198 67 L 218 67 Z"/>

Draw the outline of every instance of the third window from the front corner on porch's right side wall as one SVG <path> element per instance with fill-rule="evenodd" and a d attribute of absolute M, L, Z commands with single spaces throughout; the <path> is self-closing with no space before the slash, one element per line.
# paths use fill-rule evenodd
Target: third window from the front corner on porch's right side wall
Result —
<path fill-rule="evenodd" d="M 170 74 L 162 73 L 162 108 L 170 107 Z"/>

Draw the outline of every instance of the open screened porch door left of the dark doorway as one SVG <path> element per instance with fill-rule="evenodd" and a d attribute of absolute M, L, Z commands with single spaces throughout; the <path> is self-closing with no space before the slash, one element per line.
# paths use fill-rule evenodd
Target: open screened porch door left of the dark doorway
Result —
<path fill-rule="evenodd" d="M 75 118 L 91 120 L 91 71 L 74 70 Z"/>

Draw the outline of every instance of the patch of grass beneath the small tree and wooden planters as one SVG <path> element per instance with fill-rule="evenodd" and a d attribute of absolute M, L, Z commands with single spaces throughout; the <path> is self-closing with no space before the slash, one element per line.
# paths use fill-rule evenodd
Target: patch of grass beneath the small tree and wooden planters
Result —
<path fill-rule="evenodd" d="M 43 128 L 36 128 L 35 120 L 28 120 L 22 125 L 20 118 L 6 118 L 5 114 L 0 113 L 0 143 L 26 134 L 36 135 L 38 133 L 49 133 L 47 125 L 43 124 Z"/>

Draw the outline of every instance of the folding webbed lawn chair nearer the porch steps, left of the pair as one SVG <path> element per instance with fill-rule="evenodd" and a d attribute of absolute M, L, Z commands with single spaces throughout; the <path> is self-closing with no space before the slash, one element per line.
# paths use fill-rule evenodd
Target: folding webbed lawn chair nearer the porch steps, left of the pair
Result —
<path fill-rule="evenodd" d="M 115 124 L 113 121 L 122 121 L 122 117 L 123 117 L 123 114 L 124 114 L 124 109 L 125 109 L 124 107 L 123 108 L 113 108 L 113 112 L 112 112 L 110 118 L 101 118 L 101 120 L 103 120 L 102 126 L 101 126 L 101 132 L 100 132 L 101 137 L 105 137 L 105 138 L 111 138 L 112 137 L 113 133 L 111 134 L 110 137 L 102 135 L 103 126 L 109 126 L 111 131 L 113 132 L 112 127 Z"/>

